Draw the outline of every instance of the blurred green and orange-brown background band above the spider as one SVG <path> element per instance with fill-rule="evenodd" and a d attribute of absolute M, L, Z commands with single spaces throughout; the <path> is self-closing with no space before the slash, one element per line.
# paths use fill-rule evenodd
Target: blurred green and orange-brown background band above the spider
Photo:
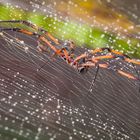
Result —
<path fill-rule="evenodd" d="M 139 26 L 125 12 L 113 8 L 96 0 L 13 0 L 0 3 L 0 20 L 29 20 L 59 39 L 73 40 L 77 46 L 109 47 L 140 58 Z"/>

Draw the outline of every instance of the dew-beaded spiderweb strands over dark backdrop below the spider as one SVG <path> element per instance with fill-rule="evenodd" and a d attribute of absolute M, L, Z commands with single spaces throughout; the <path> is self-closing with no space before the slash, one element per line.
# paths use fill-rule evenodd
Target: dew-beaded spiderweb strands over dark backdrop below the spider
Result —
<path fill-rule="evenodd" d="M 61 58 L 39 53 L 37 45 L 27 35 L 0 34 L 0 139 L 140 139 L 139 81 L 114 71 L 136 75 L 131 64 L 108 60 L 111 68 L 99 69 L 89 92 L 95 68 L 80 75 Z"/>

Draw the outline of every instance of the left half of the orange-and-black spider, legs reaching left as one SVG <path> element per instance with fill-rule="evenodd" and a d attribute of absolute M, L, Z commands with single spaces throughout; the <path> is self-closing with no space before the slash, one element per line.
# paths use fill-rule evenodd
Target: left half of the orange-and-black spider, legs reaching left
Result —
<path fill-rule="evenodd" d="M 20 28 L 0 28 L 0 31 L 14 31 L 14 32 L 20 32 L 26 35 L 35 36 L 37 37 L 38 46 L 37 49 L 39 52 L 46 52 L 47 47 L 49 47 L 53 51 L 53 56 L 57 55 L 62 58 L 64 58 L 67 63 L 70 63 L 70 58 L 73 55 L 75 45 L 72 41 L 65 41 L 64 44 L 60 44 L 58 39 L 54 38 L 48 31 L 36 26 L 35 24 L 25 21 L 25 20 L 5 20 L 0 21 L 0 23 L 19 23 L 26 25 L 32 29 L 35 30 L 35 32 L 28 31 L 26 29 L 20 29 Z M 48 38 L 48 39 L 47 39 Z M 55 44 L 52 45 L 51 42 Z M 62 46 L 57 48 L 56 46 Z"/>

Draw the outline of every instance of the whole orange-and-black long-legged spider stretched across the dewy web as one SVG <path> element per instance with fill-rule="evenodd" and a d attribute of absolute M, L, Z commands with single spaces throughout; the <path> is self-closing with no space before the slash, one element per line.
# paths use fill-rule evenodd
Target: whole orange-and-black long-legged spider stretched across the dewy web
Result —
<path fill-rule="evenodd" d="M 3 31 L 13 31 L 26 34 L 28 36 L 35 36 L 37 38 L 37 50 L 41 53 L 48 53 L 48 49 L 51 51 L 51 57 L 58 56 L 63 61 L 65 61 L 68 65 L 76 69 L 80 74 L 84 74 L 88 71 L 88 69 L 94 67 L 96 68 L 95 76 L 90 85 L 90 92 L 96 82 L 97 75 L 100 68 L 109 69 L 111 65 L 104 60 L 116 60 L 120 59 L 126 63 L 130 63 L 135 70 L 137 77 L 131 73 L 125 72 L 121 69 L 115 69 L 117 73 L 120 75 L 127 77 L 129 79 L 138 80 L 140 82 L 139 72 L 136 68 L 136 65 L 140 66 L 140 61 L 136 59 L 131 59 L 129 56 L 123 54 L 122 52 L 110 49 L 110 48 L 100 48 L 86 51 L 81 55 L 75 54 L 75 44 L 72 41 L 59 41 L 55 37 L 53 37 L 48 31 L 36 26 L 35 24 L 24 21 L 24 20 L 7 20 L 7 21 L 0 21 L 1 23 L 19 23 L 26 25 L 34 30 L 34 32 L 21 29 L 21 28 L 0 28 L 0 32 Z M 102 54 L 101 54 L 102 53 Z M 104 61 L 103 63 L 101 63 Z M 45 65 L 47 61 L 39 68 L 37 71 L 40 71 Z M 140 87 L 139 87 L 140 92 Z"/>

